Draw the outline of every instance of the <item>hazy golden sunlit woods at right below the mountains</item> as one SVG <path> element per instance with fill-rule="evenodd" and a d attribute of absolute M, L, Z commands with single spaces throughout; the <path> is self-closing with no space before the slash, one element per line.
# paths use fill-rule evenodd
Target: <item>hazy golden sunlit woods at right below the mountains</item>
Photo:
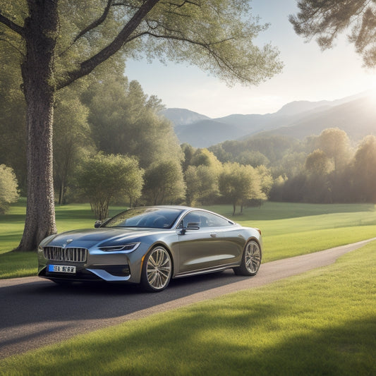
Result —
<path fill-rule="evenodd" d="M 209 148 L 222 162 L 266 166 L 273 185 L 269 199 L 286 202 L 376 202 L 376 137 L 356 142 L 328 128 L 296 140 L 256 135 Z"/>

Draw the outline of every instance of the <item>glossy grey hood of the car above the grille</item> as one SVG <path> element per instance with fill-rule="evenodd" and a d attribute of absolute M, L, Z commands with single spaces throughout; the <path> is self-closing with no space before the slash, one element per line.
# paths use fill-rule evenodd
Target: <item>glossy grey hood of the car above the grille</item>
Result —
<path fill-rule="evenodd" d="M 82 229 L 66 231 L 44 239 L 40 245 L 49 247 L 90 248 L 94 245 L 119 244 L 135 241 L 166 230 L 162 229 Z"/>

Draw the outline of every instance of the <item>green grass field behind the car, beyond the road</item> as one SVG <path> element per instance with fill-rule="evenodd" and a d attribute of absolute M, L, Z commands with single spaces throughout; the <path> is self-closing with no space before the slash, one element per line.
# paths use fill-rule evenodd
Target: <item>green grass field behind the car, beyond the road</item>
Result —
<path fill-rule="evenodd" d="M 123 208 L 111 207 L 110 215 Z M 218 205 L 209 210 L 231 217 L 232 207 Z M 262 262 L 344 245 L 376 236 L 375 205 L 311 205 L 266 202 L 246 208 L 231 217 L 244 226 L 262 229 Z M 0 215 L 0 278 L 25 277 L 37 272 L 35 253 L 10 253 L 20 241 L 25 219 L 25 200 Z M 95 219 L 90 205 L 56 207 L 58 231 L 92 227 Z"/>

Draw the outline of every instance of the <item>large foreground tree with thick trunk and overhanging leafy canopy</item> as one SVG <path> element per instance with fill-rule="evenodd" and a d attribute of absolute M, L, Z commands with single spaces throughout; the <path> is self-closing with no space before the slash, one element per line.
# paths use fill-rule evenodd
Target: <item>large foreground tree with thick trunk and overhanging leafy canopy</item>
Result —
<path fill-rule="evenodd" d="M 118 51 L 200 66 L 229 83 L 257 84 L 281 69 L 253 44 L 265 30 L 248 0 L 0 0 L 1 42 L 20 51 L 26 99 L 28 205 L 18 250 L 56 232 L 52 124 L 56 90 Z"/>

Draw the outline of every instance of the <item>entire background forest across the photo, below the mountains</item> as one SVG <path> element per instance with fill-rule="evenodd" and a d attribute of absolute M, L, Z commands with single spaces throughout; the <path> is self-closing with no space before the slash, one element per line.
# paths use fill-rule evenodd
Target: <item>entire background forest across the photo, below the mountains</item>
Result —
<path fill-rule="evenodd" d="M 0 80 L 6 83 L 0 87 L 4 212 L 16 191 L 26 195 L 25 103 L 20 76 L 7 69 L 11 54 L 0 60 Z M 174 126 L 160 114 L 161 100 L 124 77 L 121 59 L 115 66 L 56 97 L 56 204 L 89 201 L 95 216 L 104 219 L 115 203 L 230 203 L 235 212 L 264 200 L 375 202 L 373 135 L 356 143 L 329 128 L 305 140 L 260 133 L 207 149 L 179 145 Z"/>

